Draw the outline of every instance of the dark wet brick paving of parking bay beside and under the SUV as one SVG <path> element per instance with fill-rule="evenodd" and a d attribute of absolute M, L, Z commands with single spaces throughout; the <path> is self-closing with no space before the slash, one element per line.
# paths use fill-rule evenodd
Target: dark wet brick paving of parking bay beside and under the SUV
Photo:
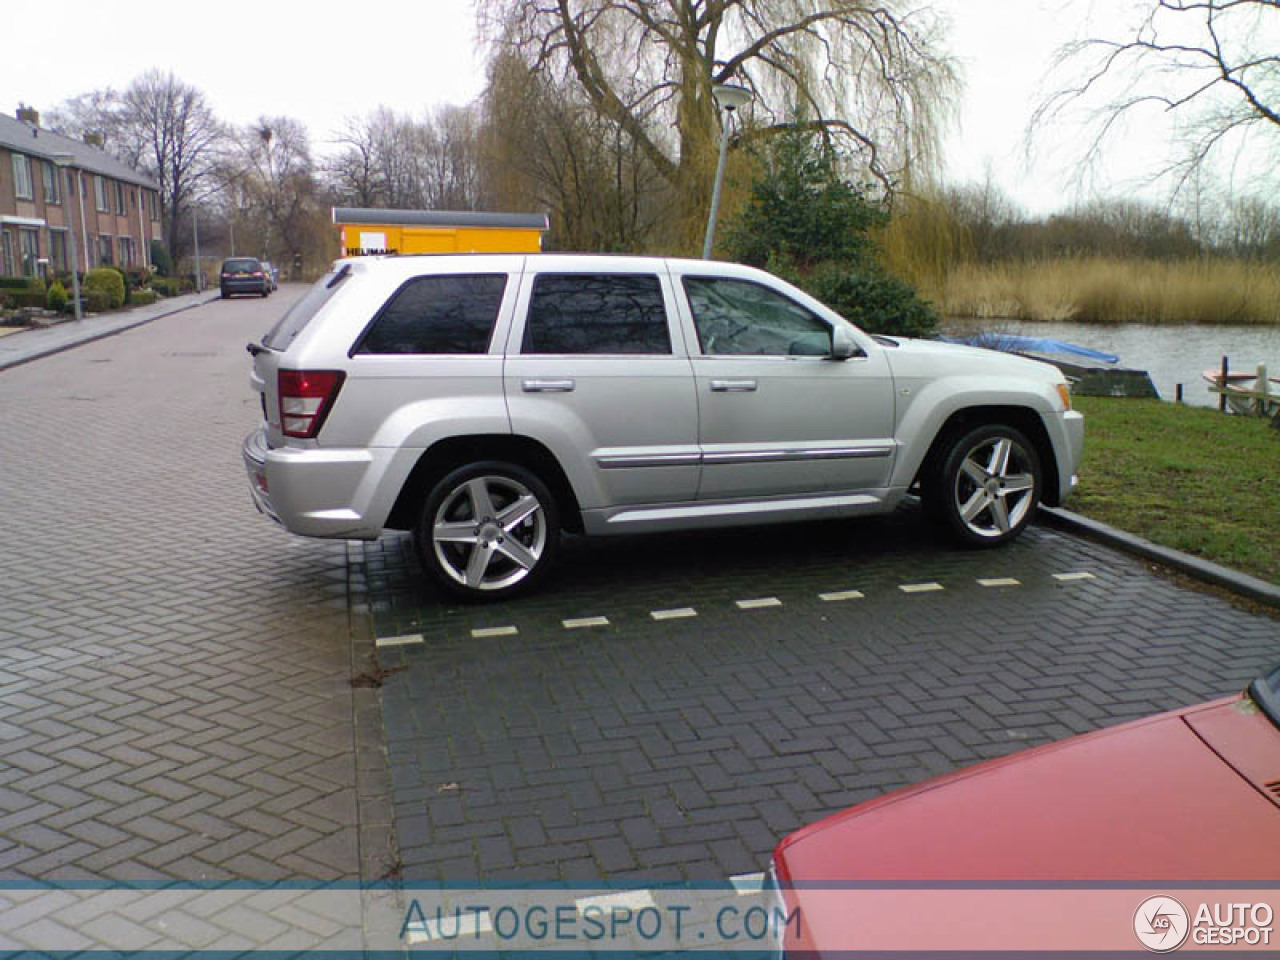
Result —
<path fill-rule="evenodd" d="M 379 657 L 407 667 L 384 710 L 421 881 L 760 870 L 827 813 L 1280 662 L 1270 616 L 1044 527 L 954 550 L 915 509 L 573 540 L 499 607 L 424 600 L 406 538 L 365 558 Z"/>

